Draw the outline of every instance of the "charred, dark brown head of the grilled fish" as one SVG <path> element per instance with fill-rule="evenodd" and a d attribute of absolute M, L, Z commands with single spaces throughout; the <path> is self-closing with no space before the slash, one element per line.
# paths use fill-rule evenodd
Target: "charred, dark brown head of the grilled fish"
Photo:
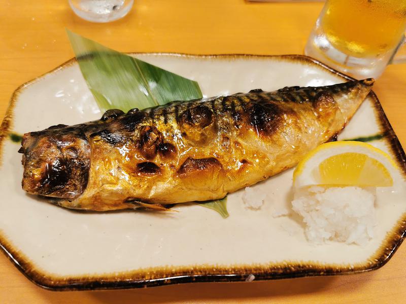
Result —
<path fill-rule="evenodd" d="M 23 154 L 22 188 L 29 194 L 73 200 L 88 182 L 89 142 L 72 127 L 26 133 L 19 150 Z"/>

